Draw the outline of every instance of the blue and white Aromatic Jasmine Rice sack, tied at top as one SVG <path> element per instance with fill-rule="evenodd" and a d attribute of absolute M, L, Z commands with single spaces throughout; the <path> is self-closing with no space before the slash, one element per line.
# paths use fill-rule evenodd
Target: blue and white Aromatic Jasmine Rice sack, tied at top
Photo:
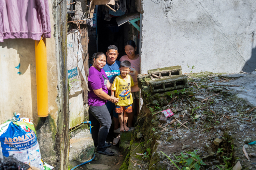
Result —
<path fill-rule="evenodd" d="M 13 155 L 20 162 L 45 170 L 34 124 L 19 116 L 15 113 L 12 120 L 0 125 L 0 158 Z"/>

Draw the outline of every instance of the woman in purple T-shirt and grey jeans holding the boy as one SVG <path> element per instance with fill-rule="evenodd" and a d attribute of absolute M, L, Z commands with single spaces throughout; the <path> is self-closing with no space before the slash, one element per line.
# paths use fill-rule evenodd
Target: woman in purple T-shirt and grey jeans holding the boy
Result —
<path fill-rule="evenodd" d="M 106 147 L 111 146 L 111 144 L 105 143 L 111 126 L 111 116 L 105 103 L 107 100 L 117 103 L 119 99 L 108 95 L 108 89 L 111 89 L 111 84 L 102 69 L 105 64 L 105 54 L 97 52 L 93 56 L 93 65 L 89 69 L 88 76 L 88 87 L 90 89 L 88 93 L 89 121 L 93 126 L 91 133 L 95 147 L 98 145 L 98 153 L 114 155 L 114 152 L 106 149 Z"/>

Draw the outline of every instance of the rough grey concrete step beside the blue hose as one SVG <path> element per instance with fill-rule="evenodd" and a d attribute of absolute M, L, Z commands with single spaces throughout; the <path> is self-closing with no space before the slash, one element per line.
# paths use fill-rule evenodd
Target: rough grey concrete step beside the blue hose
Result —
<path fill-rule="evenodd" d="M 91 159 L 94 153 L 94 142 L 90 131 L 81 130 L 70 139 L 69 160 L 76 162 L 86 162 Z"/>

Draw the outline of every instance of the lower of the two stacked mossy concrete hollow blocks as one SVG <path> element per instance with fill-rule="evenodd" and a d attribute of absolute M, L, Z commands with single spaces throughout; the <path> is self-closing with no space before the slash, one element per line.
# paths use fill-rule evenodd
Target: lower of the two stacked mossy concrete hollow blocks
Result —
<path fill-rule="evenodd" d="M 173 75 L 162 79 L 149 81 L 150 89 L 152 92 L 175 90 L 180 88 L 187 88 L 186 75 Z"/>

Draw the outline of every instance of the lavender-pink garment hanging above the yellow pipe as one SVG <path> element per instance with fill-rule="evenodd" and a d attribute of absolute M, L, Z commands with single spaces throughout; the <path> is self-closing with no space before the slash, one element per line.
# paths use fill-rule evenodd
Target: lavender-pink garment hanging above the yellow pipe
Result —
<path fill-rule="evenodd" d="M 48 0 L 0 0 L 0 42 L 51 37 Z"/>

